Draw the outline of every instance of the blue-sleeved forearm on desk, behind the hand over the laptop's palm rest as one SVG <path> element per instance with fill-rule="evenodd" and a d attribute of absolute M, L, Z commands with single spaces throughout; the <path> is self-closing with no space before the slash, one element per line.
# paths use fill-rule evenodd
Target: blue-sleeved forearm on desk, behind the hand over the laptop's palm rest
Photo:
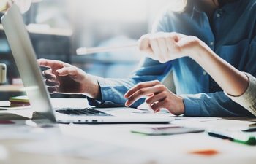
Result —
<path fill-rule="evenodd" d="M 181 95 L 184 98 L 185 116 L 202 117 L 253 117 L 223 92 Z"/>

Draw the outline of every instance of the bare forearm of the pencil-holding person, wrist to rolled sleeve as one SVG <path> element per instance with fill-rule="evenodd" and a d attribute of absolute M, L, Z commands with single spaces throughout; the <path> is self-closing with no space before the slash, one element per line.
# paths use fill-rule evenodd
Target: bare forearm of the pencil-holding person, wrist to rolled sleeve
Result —
<path fill-rule="evenodd" d="M 249 84 L 244 73 L 219 58 L 205 43 L 200 42 L 198 52 L 191 56 L 217 84 L 230 95 L 242 95 Z"/>

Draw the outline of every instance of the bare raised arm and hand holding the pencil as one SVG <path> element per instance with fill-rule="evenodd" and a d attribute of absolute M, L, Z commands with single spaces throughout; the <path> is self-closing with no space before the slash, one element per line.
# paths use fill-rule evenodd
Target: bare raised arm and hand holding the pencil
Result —
<path fill-rule="evenodd" d="M 244 73 L 219 58 L 210 47 L 195 36 L 177 33 L 147 34 L 140 39 L 140 50 L 161 63 L 189 56 L 230 95 L 241 95 L 249 84 L 249 79 Z"/>

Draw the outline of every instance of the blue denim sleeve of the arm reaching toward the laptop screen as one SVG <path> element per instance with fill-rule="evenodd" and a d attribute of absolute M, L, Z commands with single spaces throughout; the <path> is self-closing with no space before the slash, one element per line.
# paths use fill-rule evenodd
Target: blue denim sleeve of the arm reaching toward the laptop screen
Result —
<path fill-rule="evenodd" d="M 99 98 L 88 98 L 89 104 L 92 106 L 108 107 L 108 106 L 124 106 L 127 101 L 124 94 L 140 82 L 152 80 L 162 81 L 165 79 L 171 69 L 171 63 L 159 63 L 158 61 L 145 58 L 139 69 L 134 71 L 130 77 L 126 79 L 106 79 L 97 77 L 99 83 L 100 95 Z M 136 101 L 131 107 L 138 107 L 144 103 L 144 99 Z"/>

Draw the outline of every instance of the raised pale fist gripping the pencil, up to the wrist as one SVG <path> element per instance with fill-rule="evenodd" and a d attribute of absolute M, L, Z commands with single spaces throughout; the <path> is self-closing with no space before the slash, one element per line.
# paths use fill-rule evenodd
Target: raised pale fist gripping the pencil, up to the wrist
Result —
<path fill-rule="evenodd" d="M 146 34 L 139 40 L 140 51 L 160 63 L 185 56 L 192 57 L 200 50 L 200 44 L 202 41 L 197 37 L 178 33 Z"/>

